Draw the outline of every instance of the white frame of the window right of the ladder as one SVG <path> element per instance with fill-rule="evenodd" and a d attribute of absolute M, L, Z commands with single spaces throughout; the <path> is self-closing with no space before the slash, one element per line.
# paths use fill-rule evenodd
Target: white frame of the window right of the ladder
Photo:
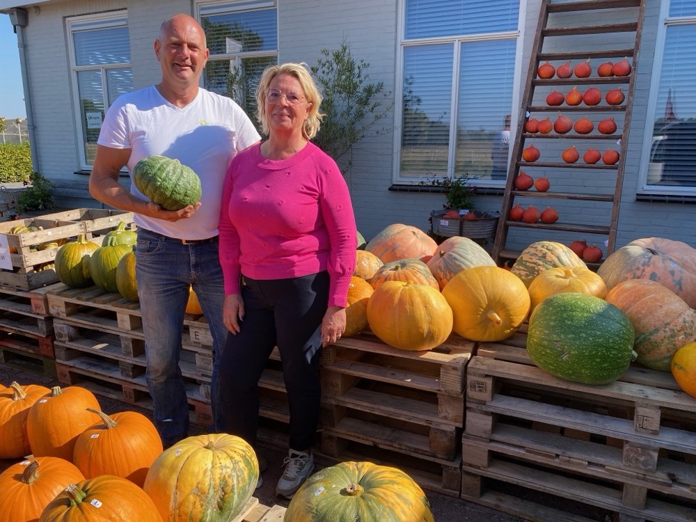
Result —
<path fill-rule="evenodd" d="M 693 25 L 696 26 L 696 15 L 684 17 L 670 17 L 670 2 L 662 2 L 658 17 L 658 30 L 655 42 L 655 54 L 652 63 L 649 98 L 645 126 L 640 154 L 640 166 L 638 170 L 638 194 L 651 196 L 696 196 L 696 180 L 693 187 L 679 187 L 678 185 L 651 185 L 648 184 L 650 159 L 654 149 L 654 135 L 651 129 L 655 127 L 657 119 L 658 90 L 660 88 L 660 73 L 662 61 L 665 55 L 665 42 L 667 41 L 667 29 L 670 26 Z"/>

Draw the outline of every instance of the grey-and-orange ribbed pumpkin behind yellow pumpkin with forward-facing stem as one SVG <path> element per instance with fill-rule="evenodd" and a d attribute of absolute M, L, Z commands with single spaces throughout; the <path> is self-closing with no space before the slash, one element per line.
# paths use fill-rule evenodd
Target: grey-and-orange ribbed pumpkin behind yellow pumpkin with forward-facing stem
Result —
<path fill-rule="evenodd" d="M 452 236 L 443 241 L 432 258 L 428 268 L 442 290 L 450 279 L 464 269 L 473 267 L 495 267 L 496 262 L 480 244 L 468 237 Z"/>

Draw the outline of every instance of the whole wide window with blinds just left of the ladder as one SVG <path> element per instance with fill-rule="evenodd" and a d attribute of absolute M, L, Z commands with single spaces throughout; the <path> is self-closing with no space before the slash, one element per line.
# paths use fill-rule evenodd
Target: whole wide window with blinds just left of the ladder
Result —
<path fill-rule="evenodd" d="M 518 24 L 519 0 L 405 1 L 397 181 L 504 182 Z"/>

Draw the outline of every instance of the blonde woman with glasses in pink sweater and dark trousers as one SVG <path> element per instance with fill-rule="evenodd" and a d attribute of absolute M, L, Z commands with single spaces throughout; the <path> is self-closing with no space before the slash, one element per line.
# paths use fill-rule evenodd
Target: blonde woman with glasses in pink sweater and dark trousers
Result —
<path fill-rule="evenodd" d="M 338 166 L 310 143 L 322 98 L 306 68 L 267 68 L 256 100 L 268 139 L 235 157 L 223 189 L 220 261 L 230 335 L 220 366 L 221 409 L 226 432 L 255 445 L 258 380 L 277 345 L 290 450 L 276 493 L 292 498 L 314 467 L 319 353 L 345 330 L 357 234 Z"/>

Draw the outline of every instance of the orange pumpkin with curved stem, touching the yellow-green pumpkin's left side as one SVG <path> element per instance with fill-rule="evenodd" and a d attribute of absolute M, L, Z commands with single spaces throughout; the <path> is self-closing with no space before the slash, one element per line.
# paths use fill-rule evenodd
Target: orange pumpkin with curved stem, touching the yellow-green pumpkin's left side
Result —
<path fill-rule="evenodd" d="M 73 462 L 86 478 L 116 475 L 140 487 L 152 462 L 164 450 L 157 428 L 137 411 L 108 416 L 89 409 L 102 422 L 89 427 L 75 441 Z"/>

